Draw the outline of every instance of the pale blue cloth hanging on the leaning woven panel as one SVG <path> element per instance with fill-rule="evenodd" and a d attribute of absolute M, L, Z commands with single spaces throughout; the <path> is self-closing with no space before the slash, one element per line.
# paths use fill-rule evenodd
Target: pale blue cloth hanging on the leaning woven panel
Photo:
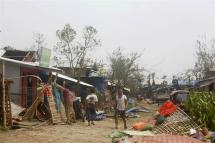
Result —
<path fill-rule="evenodd" d="M 60 96 L 60 92 L 57 89 L 56 85 L 52 85 L 52 92 L 54 95 L 54 100 L 55 100 L 55 108 L 57 110 L 57 112 L 61 111 L 61 96 Z"/>

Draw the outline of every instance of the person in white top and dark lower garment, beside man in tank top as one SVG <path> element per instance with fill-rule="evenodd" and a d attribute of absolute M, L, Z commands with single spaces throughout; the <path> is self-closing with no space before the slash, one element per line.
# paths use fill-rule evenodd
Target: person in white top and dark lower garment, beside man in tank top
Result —
<path fill-rule="evenodd" d="M 90 126 L 90 122 L 92 125 L 95 125 L 94 121 L 96 118 L 96 104 L 98 102 L 98 98 L 95 94 L 95 89 L 90 89 L 90 94 L 86 97 L 86 117 L 88 121 L 88 126 Z"/>

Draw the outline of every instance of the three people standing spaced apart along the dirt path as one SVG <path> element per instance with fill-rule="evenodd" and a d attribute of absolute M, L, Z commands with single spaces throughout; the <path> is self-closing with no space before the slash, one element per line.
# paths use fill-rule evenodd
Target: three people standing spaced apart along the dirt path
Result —
<path fill-rule="evenodd" d="M 72 122 L 75 122 L 75 111 L 73 108 L 73 101 L 75 98 L 74 92 L 72 87 L 64 85 L 63 87 L 60 85 L 57 85 L 57 87 L 63 92 L 64 95 L 64 105 L 65 105 L 65 111 L 67 116 L 67 123 L 71 124 Z M 86 102 L 85 102 L 85 111 L 86 111 L 86 119 L 88 121 L 88 126 L 95 125 L 95 119 L 96 119 L 96 111 L 97 111 L 97 103 L 98 103 L 98 97 L 95 94 L 95 89 L 91 88 L 89 95 L 86 96 Z M 123 89 L 119 88 L 116 93 L 115 98 L 115 128 L 118 129 L 118 117 L 120 116 L 124 123 L 124 128 L 127 129 L 126 124 L 126 116 L 125 116 L 125 110 L 127 108 L 128 102 L 126 95 L 123 94 Z"/>

